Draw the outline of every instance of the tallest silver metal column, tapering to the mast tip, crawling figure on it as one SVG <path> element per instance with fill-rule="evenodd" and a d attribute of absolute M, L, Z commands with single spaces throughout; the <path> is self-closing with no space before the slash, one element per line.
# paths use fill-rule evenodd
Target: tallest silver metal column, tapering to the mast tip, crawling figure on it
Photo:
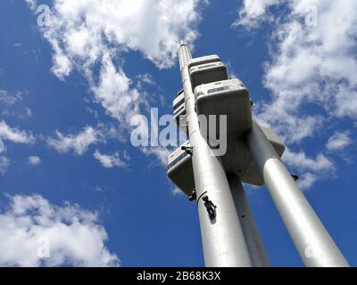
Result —
<path fill-rule="evenodd" d="M 179 62 L 185 90 L 189 141 L 193 147 L 193 169 L 197 193 L 197 207 L 206 266 L 252 266 L 245 237 L 229 189 L 228 179 L 221 160 L 200 133 L 195 113 L 195 95 L 192 91 L 187 63 L 191 59 L 186 45 L 179 47 Z M 216 218 L 210 219 L 203 205 L 206 195 L 216 208 Z"/>

